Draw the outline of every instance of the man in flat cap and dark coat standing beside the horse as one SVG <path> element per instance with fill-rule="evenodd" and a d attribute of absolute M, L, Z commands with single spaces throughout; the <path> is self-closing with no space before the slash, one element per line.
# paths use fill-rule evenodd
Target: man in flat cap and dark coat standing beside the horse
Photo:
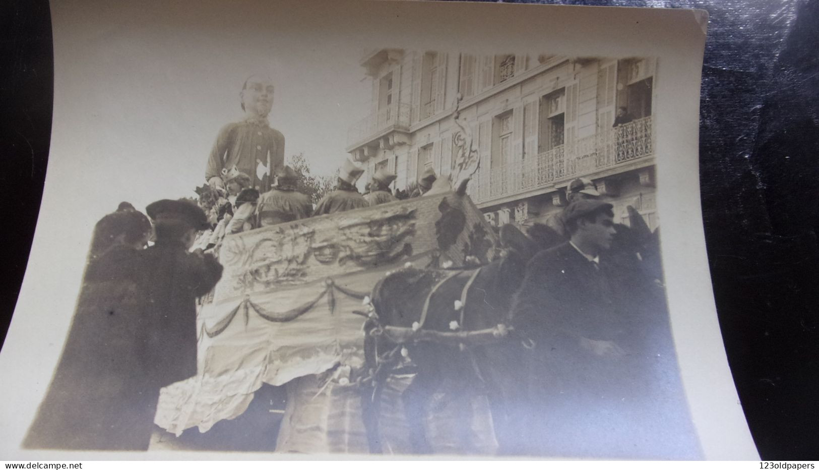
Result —
<path fill-rule="evenodd" d="M 578 198 L 563 215 L 569 241 L 529 262 L 511 315 L 536 345 L 530 364 L 534 451 L 594 456 L 603 437 L 590 427 L 621 424 L 604 415 L 610 386 L 617 388 L 609 379 L 625 354 L 627 313 L 618 308 L 605 257 L 615 235 L 612 205 Z"/>

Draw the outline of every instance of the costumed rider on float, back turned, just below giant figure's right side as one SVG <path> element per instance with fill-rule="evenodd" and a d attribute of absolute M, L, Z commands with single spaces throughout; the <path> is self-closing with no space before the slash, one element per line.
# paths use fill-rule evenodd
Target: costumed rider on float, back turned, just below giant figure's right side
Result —
<path fill-rule="evenodd" d="M 290 166 L 276 170 L 276 186 L 259 198 L 259 226 L 283 224 L 306 219 L 313 214 L 310 197 L 298 191 L 298 175 Z"/>

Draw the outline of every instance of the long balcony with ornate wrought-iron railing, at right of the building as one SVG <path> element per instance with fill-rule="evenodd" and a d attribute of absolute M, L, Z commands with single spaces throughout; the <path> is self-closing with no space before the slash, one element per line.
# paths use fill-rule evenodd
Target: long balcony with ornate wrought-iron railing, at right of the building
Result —
<path fill-rule="evenodd" d="M 633 120 L 601 135 L 554 147 L 536 157 L 492 169 L 478 169 L 468 186 L 469 197 L 479 204 L 554 187 L 570 179 L 593 176 L 654 154 L 651 116 Z"/>

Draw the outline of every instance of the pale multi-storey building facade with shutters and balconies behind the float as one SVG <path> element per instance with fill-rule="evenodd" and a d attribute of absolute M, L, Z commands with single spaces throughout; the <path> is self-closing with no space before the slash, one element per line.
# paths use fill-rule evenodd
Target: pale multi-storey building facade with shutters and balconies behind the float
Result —
<path fill-rule="evenodd" d="M 449 174 L 460 99 L 480 157 L 467 192 L 491 224 L 542 222 L 583 177 L 615 206 L 618 221 L 627 222 L 633 206 L 658 226 L 653 58 L 381 49 L 360 64 L 372 79 L 371 109 L 349 129 L 346 150 L 364 162 L 365 179 L 387 166 L 400 189 L 427 168 Z"/>

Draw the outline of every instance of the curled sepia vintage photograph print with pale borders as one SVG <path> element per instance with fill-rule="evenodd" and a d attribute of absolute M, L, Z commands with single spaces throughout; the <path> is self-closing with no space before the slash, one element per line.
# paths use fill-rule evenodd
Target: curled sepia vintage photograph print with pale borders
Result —
<path fill-rule="evenodd" d="M 3 359 L 15 339 L 48 354 L 16 373 L 36 385 L 12 447 L 713 457 L 680 338 L 717 351 L 712 399 L 735 391 L 713 310 L 669 302 L 703 287 L 665 255 L 704 250 L 699 222 L 679 229 L 696 106 L 674 105 L 699 86 L 697 16 L 668 33 L 685 66 L 608 47 L 596 25 L 627 9 L 454 4 L 446 43 L 420 38 L 435 2 L 310 3 L 349 24 L 292 2 L 53 4 L 52 160 Z M 580 46 L 469 39 L 495 13 L 574 11 Z M 686 12 L 655 13 L 645 38 Z M 664 86 L 681 68 L 686 91 Z M 37 308 L 49 289 L 61 306 Z"/>

